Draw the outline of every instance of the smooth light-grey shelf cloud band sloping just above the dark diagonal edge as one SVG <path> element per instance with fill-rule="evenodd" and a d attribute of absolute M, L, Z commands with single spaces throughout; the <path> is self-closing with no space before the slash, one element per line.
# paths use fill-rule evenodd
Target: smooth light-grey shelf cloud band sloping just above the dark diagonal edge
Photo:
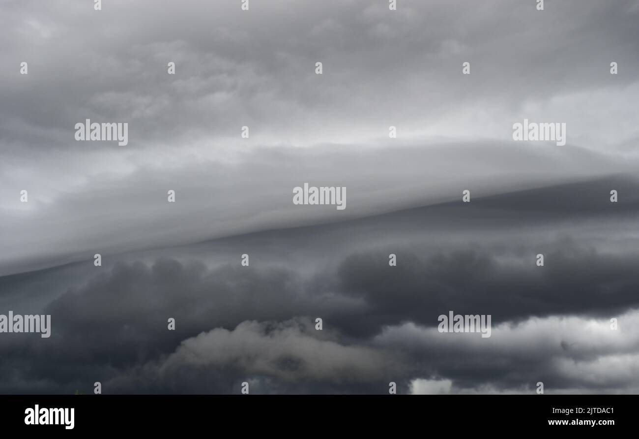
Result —
<path fill-rule="evenodd" d="M 240 163 L 182 164 L 162 171 L 142 167 L 124 175 L 95 176 L 88 188 L 77 184 L 73 177 L 62 175 L 49 177 L 63 181 L 72 178 L 60 188 L 52 188 L 49 178 L 11 179 L 0 189 L 6 200 L 0 226 L 6 230 L 0 235 L 5 249 L 0 256 L 0 272 L 9 274 L 52 263 L 86 260 L 95 253 L 188 244 L 224 235 L 435 204 L 458 199 L 467 188 L 472 189 L 473 197 L 486 196 L 630 173 L 636 167 L 635 161 L 621 163 L 599 154 L 566 151 L 558 156 L 543 149 L 512 151 L 503 143 L 482 144 L 480 154 L 478 146 L 461 143 L 423 150 L 378 149 L 372 156 L 362 156 L 357 148 L 327 148 L 323 152 L 266 150 L 242 154 Z M 500 157 L 498 161 L 492 158 L 493 154 Z M 371 174 L 371 169 L 382 165 L 389 166 L 389 171 Z M 280 172 L 282 167 L 288 171 Z M 401 175 L 394 171 L 399 168 L 403 170 Z M 450 183 L 450 172 L 459 173 L 454 184 Z M 486 180 L 486 176 L 490 179 Z M 347 209 L 338 212 L 328 206 L 300 209 L 293 205 L 292 188 L 304 182 L 346 186 Z M 588 187 L 576 186 L 573 194 L 569 193 L 571 188 L 562 189 L 560 199 L 573 204 L 581 199 L 579 191 L 588 191 L 603 203 L 608 200 L 606 191 L 609 193 L 610 187 L 622 191 L 619 205 L 629 205 L 635 199 L 635 184 L 634 180 L 622 178 L 594 181 Z M 25 188 L 30 197 L 26 207 L 19 200 L 20 190 Z M 175 204 L 167 203 L 168 189 L 176 191 Z M 520 205 L 554 197 L 540 191 L 537 198 L 525 196 Z M 599 205 L 593 202 L 592 209 Z M 49 232 L 51 228 L 55 228 L 55 234 Z"/>

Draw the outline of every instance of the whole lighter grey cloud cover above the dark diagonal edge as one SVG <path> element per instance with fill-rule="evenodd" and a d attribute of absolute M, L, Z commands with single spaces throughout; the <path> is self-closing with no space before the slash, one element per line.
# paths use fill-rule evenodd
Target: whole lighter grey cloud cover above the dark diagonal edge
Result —
<path fill-rule="evenodd" d="M 636 169 L 636 1 L 89 6 L 2 6 L 4 274 L 334 219 L 293 211 L 305 177 L 363 216 Z M 565 148 L 509 143 L 537 116 L 568 123 Z M 85 118 L 128 122 L 128 147 L 74 141 Z"/>

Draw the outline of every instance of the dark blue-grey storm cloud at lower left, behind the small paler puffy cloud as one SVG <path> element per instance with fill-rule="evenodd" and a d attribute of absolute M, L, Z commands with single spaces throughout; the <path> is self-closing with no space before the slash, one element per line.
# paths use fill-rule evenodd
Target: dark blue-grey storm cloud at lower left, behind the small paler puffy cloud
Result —
<path fill-rule="evenodd" d="M 285 321 L 318 312 L 341 315 L 359 306 L 348 298 L 329 301 L 319 294 L 305 295 L 304 285 L 291 271 L 230 266 L 207 271 L 201 264 L 171 260 L 152 267 L 121 264 L 43 310 L 56 326 L 45 343 L 29 335 L 3 337 L 4 353 L 14 354 L 3 362 L 3 369 L 6 376 L 11 371 L 27 380 L 59 383 L 54 387 L 59 392 L 65 383 L 117 378 L 212 328 L 233 329 L 245 320 Z M 169 317 L 176 319 L 175 331 L 167 330 Z"/>

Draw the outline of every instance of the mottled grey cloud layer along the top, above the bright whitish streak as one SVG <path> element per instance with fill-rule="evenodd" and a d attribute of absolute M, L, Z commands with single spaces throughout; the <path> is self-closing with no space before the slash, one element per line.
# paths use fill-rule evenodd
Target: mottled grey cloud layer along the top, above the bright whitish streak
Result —
<path fill-rule="evenodd" d="M 514 115 L 530 99 L 637 80 L 630 0 L 562 2 L 541 13 L 505 1 L 404 2 L 394 13 L 383 3 L 337 1 L 253 5 L 250 13 L 199 2 L 112 2 L 99 13 L 84 4 L 20 8 L 4 6 L 3 33 L 29 38 L 5 58 L 33 64 L 28 87 L 20 75 L 0 77 L 4 141 L 38 148 L 79 148 L 71 130 L 86 117 L 130 122 L 132 145 L 176 149 L 234 138 L 244 124 L 293 143 L 327 126 L 336 137 L 349 126 L 376 137 L 379 126 L 383 137 L 389 119 L 419 131 L 465 104 Z M 79 37 L 88 29 L 93 38 Z M 166 75 L 169 60 L 178 63 L 175 78 Z M 327 72 L 319 78 L 318 60 Z M 450 74 L 466 60 L 470 77 Z M 611 60 L 622 65 L 614 82 Z"/>

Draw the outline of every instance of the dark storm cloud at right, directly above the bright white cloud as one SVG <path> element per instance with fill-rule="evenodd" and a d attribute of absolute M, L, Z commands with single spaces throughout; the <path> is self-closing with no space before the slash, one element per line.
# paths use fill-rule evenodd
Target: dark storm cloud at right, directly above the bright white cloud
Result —
<path fill-rule="evenodd" d="M 549 249 L 550 250 L 550 249 Z M 341 291 L 362 298 L 366 319 L 344 323 L 353 332 L 376 333 L 384 324 L 438 324 L 440 314 L 491 314 L 493 323 L 530 316 L 591 314 L 603 317 L 639 307 L 639 254 L 601 255 L 571 242 L 545 254 L 546 266 L 500 263 L 484 249 L 436 253 L 420 260 L 397 252 L 389 267 L 383 255 L 358 255 L 340 270 Z"/>

